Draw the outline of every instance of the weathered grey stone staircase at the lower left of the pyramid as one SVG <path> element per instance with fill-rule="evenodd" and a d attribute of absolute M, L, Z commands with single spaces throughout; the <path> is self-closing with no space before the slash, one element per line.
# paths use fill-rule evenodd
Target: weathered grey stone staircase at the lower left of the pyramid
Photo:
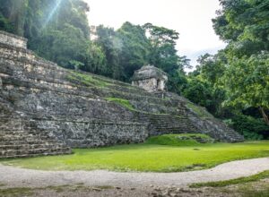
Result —
<path fill-rule="evenodd" d="M 0 158 L 25 158 L 71 153 L 48 132 L 36 130 L 30 121 L 0 120 Z"/>

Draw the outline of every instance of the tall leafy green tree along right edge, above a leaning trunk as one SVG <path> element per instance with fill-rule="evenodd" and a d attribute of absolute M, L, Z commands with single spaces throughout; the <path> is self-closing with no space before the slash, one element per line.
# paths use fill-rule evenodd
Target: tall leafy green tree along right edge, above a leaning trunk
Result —
<path fill-rule="evenodd" d="M 221 0 L 215 32 L 228 43 L 223 73 L 227 105 L 258 107 L 268 121 L 269 1 Z"/>

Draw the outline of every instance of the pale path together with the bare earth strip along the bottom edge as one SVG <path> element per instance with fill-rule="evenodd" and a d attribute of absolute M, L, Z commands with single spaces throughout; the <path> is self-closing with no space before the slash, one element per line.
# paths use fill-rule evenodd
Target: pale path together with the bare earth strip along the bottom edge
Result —
<path fill-rule="evenodd" d="M 213 188 L 188 189 L 187 185 L 252 176 L 265 170 L 269 170 L 269 158 L 232 161 L 211 169 L 178 173 L 41 171 L 0 165 L 0 188 L 35 188 L 23 196 L 233 196 Z M 263 183 L 268 185 L 268 180 Z"/>

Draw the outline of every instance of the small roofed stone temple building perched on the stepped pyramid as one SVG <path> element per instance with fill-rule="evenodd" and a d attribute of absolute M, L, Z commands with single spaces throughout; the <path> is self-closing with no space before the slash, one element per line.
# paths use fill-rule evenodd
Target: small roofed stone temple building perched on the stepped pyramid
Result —
<path fill-rule="evenodd" d="M 167 81 L 168 76 L 161 69 L 153 65 L 144 65 L 141 69 L 134 72 L 132 85 L 147 91 L 163 91 Z"/>

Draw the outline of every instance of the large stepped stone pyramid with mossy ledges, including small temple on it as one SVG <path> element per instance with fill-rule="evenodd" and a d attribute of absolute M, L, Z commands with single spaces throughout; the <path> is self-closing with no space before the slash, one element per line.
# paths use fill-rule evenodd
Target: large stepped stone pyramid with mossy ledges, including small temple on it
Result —
<path fill-rule="evenodd" d="M 27 39 L 0 31 L 0 158 L 138 143 L 163 133 L 244 140 L 204 107 L 168 91 L 160 96 L 154 90 L 164 90 L 167 76 L 152 66 L 137 71 L 132 86 L 67 70 L 26 46 Z"/>

